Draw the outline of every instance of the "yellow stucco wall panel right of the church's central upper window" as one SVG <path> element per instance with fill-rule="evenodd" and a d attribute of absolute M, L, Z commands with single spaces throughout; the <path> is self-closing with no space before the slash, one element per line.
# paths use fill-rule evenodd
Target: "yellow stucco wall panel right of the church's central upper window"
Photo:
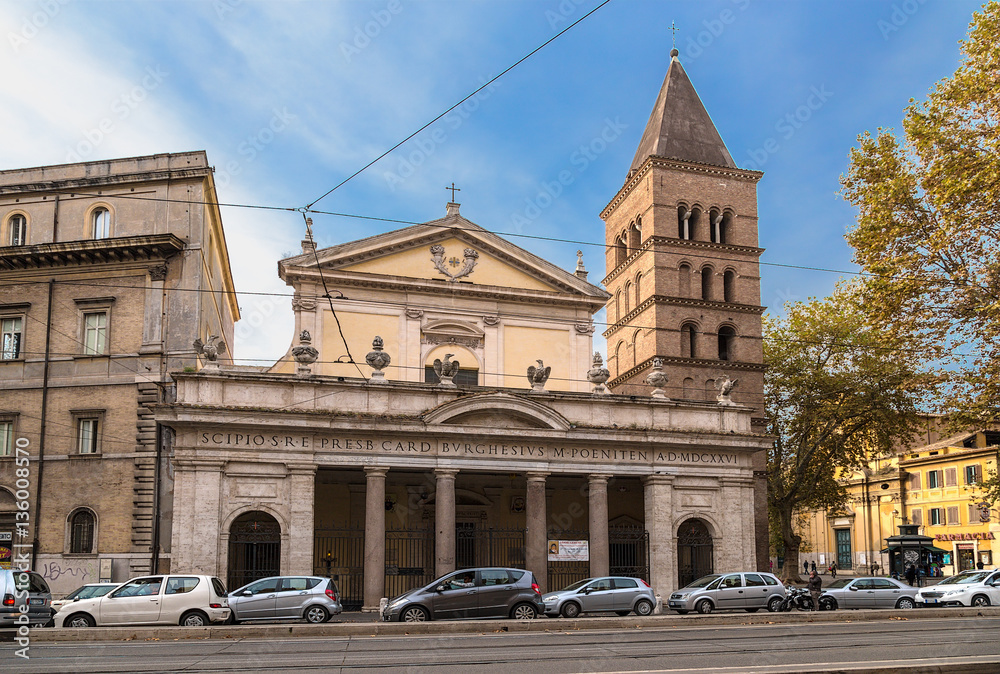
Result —
<path fill-rule="evenodd" d="M 545 388 L 568 391 L 570 376 L 570 333 L 568 330 L 507 326 L 503 335 L 504 386 L 526 387 L 528 366 L 541 359 L 552 367 Z"/>

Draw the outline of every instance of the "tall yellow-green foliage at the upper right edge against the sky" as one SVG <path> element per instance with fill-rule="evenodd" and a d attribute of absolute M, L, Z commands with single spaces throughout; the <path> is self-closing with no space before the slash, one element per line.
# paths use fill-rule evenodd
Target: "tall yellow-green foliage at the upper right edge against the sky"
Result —
<path fill-rule="evenodd" d="M 847 236 L 875 320 L 919 340 L 952 373 L 957 425 L 998 420 L 1000 400 L 1000 3 L 974 15 L 962 61 L 903 134 L 865 133 L 842 176 L 858 208 Z"/>

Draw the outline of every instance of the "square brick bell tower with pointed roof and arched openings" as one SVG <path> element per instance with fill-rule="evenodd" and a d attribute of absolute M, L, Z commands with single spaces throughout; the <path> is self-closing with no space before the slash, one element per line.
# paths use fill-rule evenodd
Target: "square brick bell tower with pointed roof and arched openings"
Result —
<path fill-rule="evenodd" d="M 715 402 L 716 382 L 739 379 L 733 402 L 758 410 L 763 432 L 757 181 L 737 168 L 676 49 L 625 178 L 601 213 L 609 327 L 608 387 L 649 395 L 653 358 L 666 395 Z M 768 560 L 765 461 L 754 462 L 758 568 Z M 748 564 L 753 560 L 747 560 Z"/>

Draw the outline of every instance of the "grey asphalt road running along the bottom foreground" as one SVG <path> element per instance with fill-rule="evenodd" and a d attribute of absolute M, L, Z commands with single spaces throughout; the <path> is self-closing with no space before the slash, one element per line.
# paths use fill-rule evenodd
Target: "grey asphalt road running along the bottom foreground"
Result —
<path fill-rule="evenodd" d="M 996 672 L 998 629 L 1000 617 L 897 616 L 877 622 L 631 630 L 39 643 L 31 646 L 27 661 L 3 644 L 0 671 L 809 672 L 854 666 L 872 671 L 884 664 L 899 668 L 895 671 L 924 666 L 924 671 Z"/>

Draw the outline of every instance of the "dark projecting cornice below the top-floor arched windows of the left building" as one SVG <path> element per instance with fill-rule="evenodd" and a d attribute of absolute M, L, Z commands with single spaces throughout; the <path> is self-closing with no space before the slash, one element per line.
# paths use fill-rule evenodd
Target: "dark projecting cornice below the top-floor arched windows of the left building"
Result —
<path fill-rule="evenodd" d="M 165 260 L 182 250 L 184 242 L 173 234 L 6 246 L 0 248 L 0 269 Z"/>

